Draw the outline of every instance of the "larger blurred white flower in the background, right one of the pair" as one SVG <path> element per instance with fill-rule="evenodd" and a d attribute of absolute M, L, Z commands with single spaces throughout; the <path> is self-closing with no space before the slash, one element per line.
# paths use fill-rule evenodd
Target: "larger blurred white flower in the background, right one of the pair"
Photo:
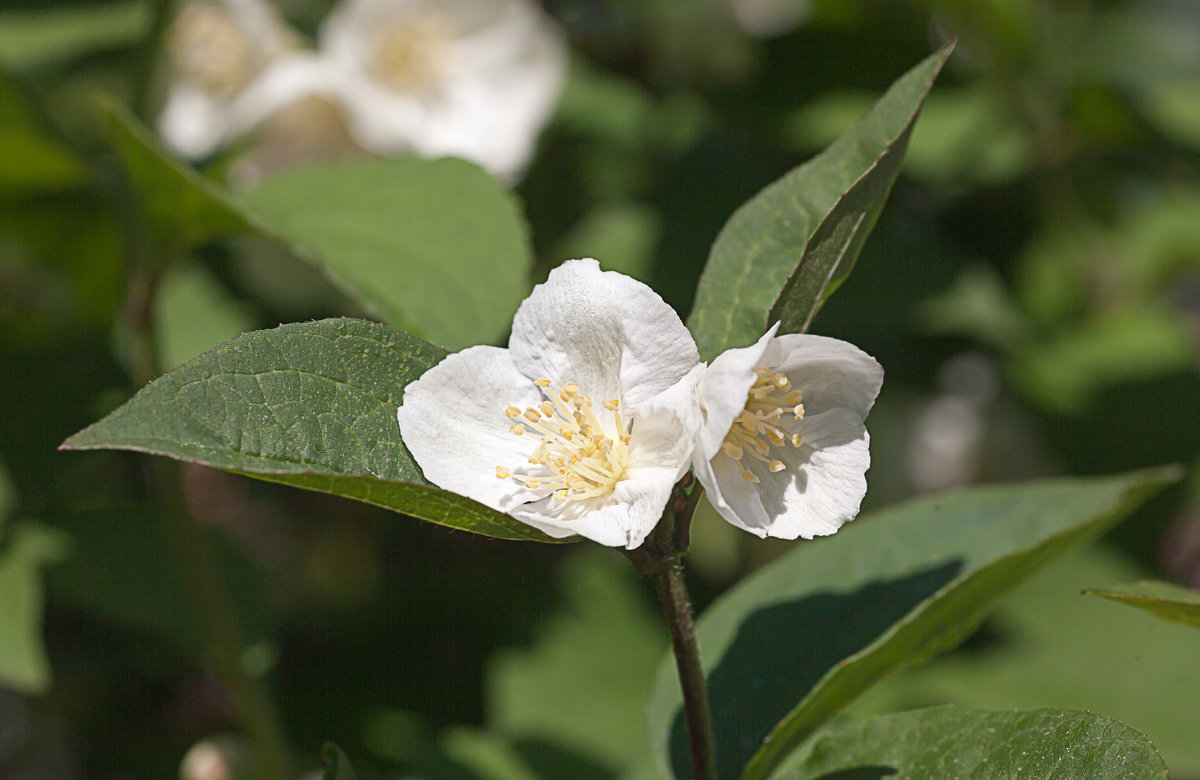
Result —
<path fill-rule="evenodd" d="M 528 0 L 343 0 L 319 44 L 364 149 L 463 157 L 510 180 L 566 70 L 562 32 Z"/>

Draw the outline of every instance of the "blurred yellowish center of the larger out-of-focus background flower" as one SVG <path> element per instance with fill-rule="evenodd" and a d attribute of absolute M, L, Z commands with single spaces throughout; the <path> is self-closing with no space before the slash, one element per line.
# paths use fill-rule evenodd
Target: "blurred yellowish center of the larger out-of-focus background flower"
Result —
<path fill-rule="evenodd" d="M 409 14 L 376 38 L 376 78 L 400 92 L 428 92 L 445 73 L 452 40 L 443 14 Z"/>

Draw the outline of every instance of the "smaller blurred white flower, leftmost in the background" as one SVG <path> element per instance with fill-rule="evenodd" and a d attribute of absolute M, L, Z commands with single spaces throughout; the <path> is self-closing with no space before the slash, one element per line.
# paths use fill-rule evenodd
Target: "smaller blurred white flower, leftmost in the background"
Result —
<path fill-rule="evenodd" d="M 212 154 L 263 113 L 247 108 L 247 89 L 295 36 L 266 0 L 192 0 L 168 34 L 174 80 L 158 118 L 167 144 L 190 158 Z M 276 103 L 278 104 L 278 103 Z"/>

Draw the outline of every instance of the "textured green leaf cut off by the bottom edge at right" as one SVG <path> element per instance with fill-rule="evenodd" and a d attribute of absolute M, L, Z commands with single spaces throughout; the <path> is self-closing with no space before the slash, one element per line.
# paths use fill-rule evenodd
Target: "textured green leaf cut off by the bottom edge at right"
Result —
<path fill-rule="evenodd" d="M 797 758 L 773 780 L 1168 776 L 1145 734 L 1070 709 L 996 713 L 950 706 L 841 722 Z"/>

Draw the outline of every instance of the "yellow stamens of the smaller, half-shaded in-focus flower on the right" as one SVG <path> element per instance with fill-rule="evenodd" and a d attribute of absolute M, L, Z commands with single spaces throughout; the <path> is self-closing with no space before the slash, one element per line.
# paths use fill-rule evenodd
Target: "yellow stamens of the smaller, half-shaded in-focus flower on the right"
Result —
<path fill-rule="evenodd" d="M 758 478 L 745 467 L 743 457 L 750 456 L 766 463 L 772 472 L 782 472 L 786 467 L 782 461 L 772 457 L 772 448 L 787 444 L 798 448 L 804 444 L 802 434 L 787 433 L 782 427 L 785 414 L 791 414 L 796 420 L 804 419 L 800 391 L 792 389 L 792 383 L 785 374 L 773 372 L 767 366 L 755 368 L 755 374 L 757 379 L 746 395 L 746 406 L 733 419 L 721 444 L 721 451 L 737 461 L 742 468 L 742 479 L 748 482 L 757 482 Z"/>

